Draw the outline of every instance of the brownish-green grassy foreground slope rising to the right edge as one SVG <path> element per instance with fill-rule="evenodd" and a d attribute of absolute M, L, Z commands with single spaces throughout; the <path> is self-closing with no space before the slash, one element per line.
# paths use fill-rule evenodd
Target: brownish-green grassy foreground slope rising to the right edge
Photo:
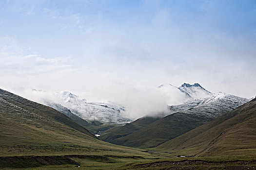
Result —
<path fill-rule="evenodd" d="M 256 99 L 156 148 L 167 149 L 184 155 L 256 156 Z"/>

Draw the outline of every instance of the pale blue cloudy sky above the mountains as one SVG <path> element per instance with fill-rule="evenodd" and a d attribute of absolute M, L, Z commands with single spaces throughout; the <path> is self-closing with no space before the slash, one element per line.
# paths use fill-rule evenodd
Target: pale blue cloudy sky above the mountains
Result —
<path fill-rule="evenodd" d="M 0 88 L 18 94 L 145 106 L 199 83 L 252 98 L 255 66 L 256 0 L 0 0 Z"/>

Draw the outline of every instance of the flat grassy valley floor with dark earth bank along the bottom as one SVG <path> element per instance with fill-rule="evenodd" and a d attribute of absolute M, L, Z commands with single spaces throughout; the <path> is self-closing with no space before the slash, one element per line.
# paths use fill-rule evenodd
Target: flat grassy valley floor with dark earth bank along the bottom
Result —
<path fill-rule="evenodd" d="M 44 160 L 44 163 L 48 164 L 60 163 L 61 160 L 67 161 L 65 165 L 43 165 L 31 168 L 16 168 L 15 170 L 256 170 L 256 159 L 254 157 L 222 156 L 179 158 L 177 156 L 171 156 L 170 158 L 166 158 L 164 155 L 151 158 L 111 155 L 66 155 L 60 157 L 61 156 L 13 156 L 0 157 L 0 161 L 1 163 L 8 163 L 8 161 L 12 161 L 13 163 L 15 159 L 16 163 L 20 162 L 20 166 L 29 164 L 33 166 L 33 161 L 31 162 L 31 160 L 36 159 Z M 26 162 L 27 160 L 30 160 L 30 162 Z M 13 170 L 13 168 L 3 168 L 3 170 Z"/>

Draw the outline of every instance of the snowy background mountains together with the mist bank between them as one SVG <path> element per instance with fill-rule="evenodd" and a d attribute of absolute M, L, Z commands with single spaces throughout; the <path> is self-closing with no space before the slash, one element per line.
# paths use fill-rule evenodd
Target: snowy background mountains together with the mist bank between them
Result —
<path fill-rule="evenodd" d="M 164 84 L 152 89 L 138 89 L 135 96 L 120 93 L 115 102 L 88 102 L 80 98 L 79 94 L 69 91 L 49 93 L 32 89 L 25 92 L 31 94 L 28 95 L 32 96 L 29 99 L 46 104 L 60 112 L 63 112 L 63 107 L 66 107 L 72 114 L 84 120 L 119 124 L 125 124 L 144 116 L 164 117 L 211 103 L 211 101 L 215 103 L 213 101 L 229 96 L 221 92 L 213 94 L 198 83 L 193 85 L 184 83 L 179 87 Z M 118 101 L 118 99 L 121 100 Z M 225 99 L 228 98 L 225 97 Z"/>

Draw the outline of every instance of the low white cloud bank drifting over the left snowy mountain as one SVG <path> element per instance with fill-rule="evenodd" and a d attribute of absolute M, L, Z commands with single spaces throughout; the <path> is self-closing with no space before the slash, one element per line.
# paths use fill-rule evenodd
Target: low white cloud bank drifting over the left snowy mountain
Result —
<path fill-rule="evenodd" d="M 71 62 L 72 58 L 15 55 L 7 49 L 10 48 L 0 51 L 1 88 L 33 101 L 42 103 L 39 95 L 52 98 L 54 92 L 68 90 L 91 102 L 121 103 L 127 107 L 127 115 L 132 119 L 167 110 L 166 97 L 158 93 L 154 86 L 149 88 L 133 81 L 126 82 L 129 78 L 119 79 L 120 75 L 114 74 L 111 69 L 109 73 L 101 69 L 86 69 L 80 65 L 76 67 Z M 31 90 L 34 88 L 48 92 L 38 93 Z"/>

